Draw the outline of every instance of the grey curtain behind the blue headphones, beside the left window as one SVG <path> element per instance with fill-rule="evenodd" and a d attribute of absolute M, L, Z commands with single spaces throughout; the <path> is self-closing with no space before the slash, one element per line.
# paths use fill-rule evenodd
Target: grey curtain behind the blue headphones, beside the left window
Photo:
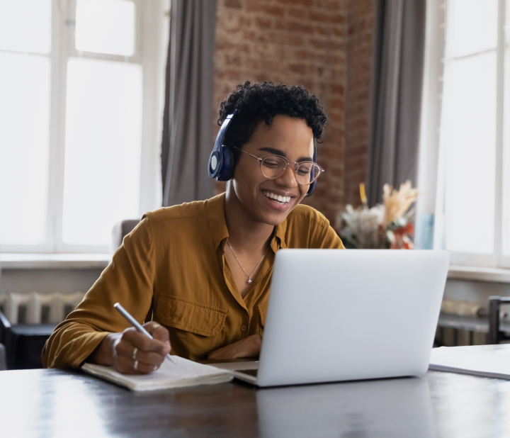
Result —
<path fill-rule="evenodd" d="M 162 138 L 163 206 L 212 196 L 215 0 L 172 0 Z"/>

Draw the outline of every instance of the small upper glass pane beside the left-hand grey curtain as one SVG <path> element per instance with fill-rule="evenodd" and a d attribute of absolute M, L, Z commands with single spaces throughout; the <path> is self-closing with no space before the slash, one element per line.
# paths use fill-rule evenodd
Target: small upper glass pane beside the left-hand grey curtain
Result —
<path fill-rule="evenodd" d="M 135 4 L 128 0 L 77 0 L 76 48 L 84 52 L 132 56 Z"/>

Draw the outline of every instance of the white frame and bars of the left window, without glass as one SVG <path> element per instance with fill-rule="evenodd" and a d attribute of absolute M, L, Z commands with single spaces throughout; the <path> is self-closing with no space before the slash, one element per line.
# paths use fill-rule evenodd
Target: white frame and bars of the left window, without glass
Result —
<path fill-rule="evenodd" d="M 154 210 L 162 205 L 159 146 L 162 137 L 165 42 L 168 41 L 169 35 L 170 1 L 126 1 L 135 4 L 135 52 L 131 57 L 76 50 L 74 29 L 77 0 L 51 1 L 51 51 L 49 54 L 33 54 L 50 59 L 46 241 L 40 245 L 1 245 L 0 252 L 107 254 L 110 251 L 110 245 L 69 245 L 62 242 L 67 62 L 72 58 L 84 57 L 142 65 L 139 217 L 146 211 Z"/>

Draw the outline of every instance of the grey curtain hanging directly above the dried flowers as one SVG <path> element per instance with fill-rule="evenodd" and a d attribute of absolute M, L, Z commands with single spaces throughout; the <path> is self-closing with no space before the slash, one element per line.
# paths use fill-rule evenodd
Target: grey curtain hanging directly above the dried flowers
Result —
<path fill-rule="evenodd" d="M 370 206 L 382 186 L 416 186 L 426 0 L 375 0 L 372 113 L 367 159 Z"/>

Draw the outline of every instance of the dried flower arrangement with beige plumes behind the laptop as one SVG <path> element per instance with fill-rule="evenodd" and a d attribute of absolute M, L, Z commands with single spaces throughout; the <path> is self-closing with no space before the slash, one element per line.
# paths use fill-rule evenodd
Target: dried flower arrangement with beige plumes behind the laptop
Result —
<path fill-rule="evenodd" d="M 382 189 L 382 204 L 368 208 L 365 185 L 360 184 L 363 206 L 350 204 L 336 216 L 336 229 L 347 248 L 358 249 L 413 249 L 414 209 L 411 204 L 418 197 L 418 190 L 411 181 L 393 189 L 385 184 Z M 343 225 L 343 228 L 342 228 Z"/>

